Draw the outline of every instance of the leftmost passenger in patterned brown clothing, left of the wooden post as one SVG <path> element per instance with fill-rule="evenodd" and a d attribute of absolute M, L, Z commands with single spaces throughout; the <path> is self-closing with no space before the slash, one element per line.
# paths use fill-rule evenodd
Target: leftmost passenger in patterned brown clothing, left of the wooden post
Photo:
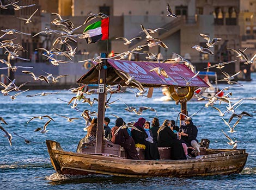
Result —
<path fill-rule="evenodd" d="M 79 141 L 77 145 L 77 150 L 76 150 L 77 153 L 81 153 L 82 146 L 84 143 L 88 143 L 96 140 L 96 131 L 97 131 L 97 118 L 92 119 L 91 124 L 87 128 L 87 135 Z"/>

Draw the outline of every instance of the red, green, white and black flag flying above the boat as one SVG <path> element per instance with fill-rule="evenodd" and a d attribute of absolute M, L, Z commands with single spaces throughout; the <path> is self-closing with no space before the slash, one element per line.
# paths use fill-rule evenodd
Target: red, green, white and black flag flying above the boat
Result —
<path fill-rule="evenodd" d="M 83 31 L 83 33 L 88 33 L 89 35 L 89 37 L 86 38 L 87 43 L 95 43 L 100 40 L 107 40 L 108 26 L 108 17 L 87 26 Z"/>

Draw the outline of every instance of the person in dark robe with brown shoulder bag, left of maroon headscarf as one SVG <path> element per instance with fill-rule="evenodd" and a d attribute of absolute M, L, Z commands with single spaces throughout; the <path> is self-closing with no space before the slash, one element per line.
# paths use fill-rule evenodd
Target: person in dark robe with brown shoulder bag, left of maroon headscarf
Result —
<path fill-rule="evenodd" d="M 124 147 L 127 153 L 127 159 L 139 160 L 138 152 L 135 148 L 133 138 L 128 134 L 123 118 L 117 118 L 115 126 L 111 129 L 111 142 Z"/>

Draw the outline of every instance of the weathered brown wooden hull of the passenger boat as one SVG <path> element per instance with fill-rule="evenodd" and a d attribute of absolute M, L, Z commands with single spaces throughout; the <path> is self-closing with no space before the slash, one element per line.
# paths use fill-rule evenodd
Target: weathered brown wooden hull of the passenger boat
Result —
<path fill-rule="evenodd" d="M 61 149 L 58 142 L 46 141 L 54 169 L 60 174 L 106 174 L 127 177 L 210 176 L 240 173 L 248 154 L 245 150 L 223 149 L 222 153 L 191 160 L 129 160 L 109 155 L 72 153 Z"/>

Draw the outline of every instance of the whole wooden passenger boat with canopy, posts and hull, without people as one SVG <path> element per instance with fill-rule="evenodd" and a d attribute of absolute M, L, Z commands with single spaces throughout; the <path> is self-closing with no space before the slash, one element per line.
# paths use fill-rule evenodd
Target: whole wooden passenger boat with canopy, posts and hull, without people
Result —
<path fill-rule="evenodd" d="M 104 56 L 103 56 L 104 57 Z M 106 56 L 105 56 L 106 57 Z M 168 77 L 151 69 L 160 67 Z M 191 160 L 170 160 L 170 148 L 159 148 L 160 160 L 143 160 L 143 149 L 138 149 L 141 160 L 126 159 L 125 150 L 120 145 L 103 140 L 103 121 L 105 115 L 106 84 L 127 86 L 131 77 L 135 80 L 129 84 L 140 88 L 148 87 L 148 97 L 154 87 L 168 87 L 172 98 L 180 103 L 181 112 L 187 115 L 187 101 L 193 97 L 197 88 L 209 87 L 203 79 L 196 77 L 189 86 L 179 77 L 187 79 L 194 73 L 185 65 L 163 64 L 156 62 L 135 62 L 126 60 L 105 60 L 92 67 L 77 83 L 99 84 L 99 104 L 97 117 L 96 141 L 85 143 L 82 153 L 65 151 L 58 142 L 47 140 L 51 163 L 60 174 L 106 174 L 127 177 L 148 176 L 209 176 L 240 173 L 246 164 L 246 150 L 209 149 L 206 143 L 202 155 Z M 180 124 L 185 117 L 180 115 Z M 203 141 L 204 142 L 204 141 Z M 204 145 L 205 143 L 201 143 Z"/>

